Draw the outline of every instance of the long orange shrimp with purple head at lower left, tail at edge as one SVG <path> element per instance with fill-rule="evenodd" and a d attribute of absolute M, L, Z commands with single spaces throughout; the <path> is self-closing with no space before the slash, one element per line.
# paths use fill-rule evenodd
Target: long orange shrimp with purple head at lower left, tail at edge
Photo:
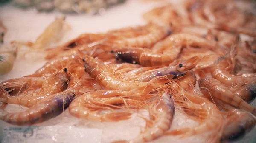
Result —
<path fill-rule="evenodd" d="M 91 79 L 91 78 L 90 78 Z M 90 79 L 82 79 L 77 84 L 67 90 L 50 95 L 33 105 L 24 112 L 10 113 L 2 107 L 0 109 L 0 119 L 15 125 L 32 125 L 41 123 L 60 115 L 69 107 L 73 99 L 85 92 L 93 90 Z"/>

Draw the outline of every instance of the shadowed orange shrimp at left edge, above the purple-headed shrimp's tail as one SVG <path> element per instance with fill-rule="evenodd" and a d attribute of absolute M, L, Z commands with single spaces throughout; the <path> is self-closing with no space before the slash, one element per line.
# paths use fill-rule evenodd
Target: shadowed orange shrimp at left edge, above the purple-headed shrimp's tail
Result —
<path fill-rule="evenodd" d="M 38 77 L 22 77 L 9 79 L 0 83 L 0 87 L 6 90 L 9 95 L 16 96 L 27 90 L 35 90 L 41 88 L 44 83 L 43 78 Z"/>

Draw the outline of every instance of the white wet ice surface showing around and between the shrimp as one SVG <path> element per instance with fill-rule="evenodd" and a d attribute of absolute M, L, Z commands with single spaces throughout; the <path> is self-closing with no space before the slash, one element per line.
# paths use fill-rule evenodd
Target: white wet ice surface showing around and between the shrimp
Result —
<path fill-rule="evenodd" d="M 97 33 L 105 32 L 114 28 L 142 25 L 145 21 L 143 21 L 141 15 L 143 12 L 148 11 L 154 6 L 156 6 L 155 3 L 142 4 L 136 0 L 129 0 L 125 5 L 119 5 L 109 9 L 106 11 L 105 15 L 67 15 L 66 21 L 70 24 L 72 29 L 68 35 L 64 37 L 63 41 L 75 38 L 84 32 Z M 44 28 L 46 28 L 47 25 L 58 15 L 58 13 L 37 13 L 32 9 L 16 9 L 9 5 L 0 6 L 0 18 L 8 28 L 5 36 L 5 43 L 12 40 L 35 41 L 37 36 L 44 31 Z M 125 19 L 123 17 L 125 17 Z M 15 61 L 13 70 L 9 74 L 0 76 L 0 82 L 34 73 L 35 70 L 40 68 L 46 62 L 43 59 L 43 56 L 44 55 L 42 53 L 29 53 L 26 54 L 26 58 L 24 58 L 24 56 L 22 56 L 22 52 L 20 52 Z M 255 106 L 255 103 L 256 102 L 252 103 L 253 106 Z M 25 109 L 25 107 L 19 107 L 12 104 L 9 104 L 6 108 L 9 112 L 18 112 L 19 110 L 22 111 Z M 140 111 L 138 114 L 132 115 L 131 119 L 126 121 L 99 123 L 75 118 L 71 116 L 68 111 L 65 111 L 58 117 L 37 124 L 36 126 L 63 126 L 63 131 L 67 130 L 70 126 L 83 129 L 102 129 L 102 135 L 99 135 L 99 137 L 101 137 L 101 142 L 108 143 L 115 140 L 129 140 L 136 137 L 136 135 L 138 135 L 145 126 L 145 121 L 138 116 L 140 114 L 147 115 L 148 113 L 147 111 Z M 11 125 L 0 121 L 0 135 L 3 135 L 3 127 L 5 126 Z M 186 118 L 186 116 L 178 110 L 175 111 L 175 117 L 171 129 L 193 126 L 197 126 L 195 121 Z M 254 143 L 256 138 L 253 135 L 255 133 L 256 130 L 254 129 L 246 135 L 243 140 L 237 143 Z M 77 137 L 74 134 L 68 135 L 70 136 L 70 140 L 72 140 L 73 137 Z M 152 143 L 205 143 L 206 140 L 206 135 L 197 135 L 186 138 L 164 136 L 154 140 Z M 83 141 L 84 139 L 80 140 L 80 142 Z"/>

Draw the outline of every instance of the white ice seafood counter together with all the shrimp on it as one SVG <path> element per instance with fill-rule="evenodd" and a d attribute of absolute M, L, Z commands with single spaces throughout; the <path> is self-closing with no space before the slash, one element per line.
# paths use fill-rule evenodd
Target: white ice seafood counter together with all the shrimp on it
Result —
<path fill-rule="evenodd" d="M 11 127 L 31 126 L 23 135 L 23 142 L 29 142 L 29 133 L 25 134 L 29 129 L 53 132 L 62 126 L 61 132 L 72 128 L 73 133 L 58 136 L 61 133 L 54 132 L 49 140 L 62 142 L 61 137 L 68 136 L 67 140 L 79 142 L 89 132 L 97 132 L 98 136 L 85 140 L 254 143 L 253 4 L 242 0 L 130 0 L 116 7 L 119 20 L 109 20 L 116 13 L 111 10 L 94 19 L 86 16 L 87 21 L 85 16 L 81 20 L 51 15 L 52 22 L 43 22 L 48 26 L 27 39 L 21 38 L 23 34 L 12 35 L 19 26 L 11 19 L 19 19 L 6 13 L 10 6 L 3 7 L 3 142 L 16 141 L 9 137 L 18 134 L 9 131 L 16 129 Z M 127 9 L 134 13 L 127 14 Z M 122 21 L 125 14 L 127 21 Z M 36 21 L 46 15 L 34 16 Z M 11 17 L 9 22 L 7 17 Z M 85 26 L 91 20 L 96 21 L 91 27 L 99 25 L 97 30 Z M 33 24 L 27 29 L 32 31 Z M 84 135 L 78 137 L 78 130 Z"/>

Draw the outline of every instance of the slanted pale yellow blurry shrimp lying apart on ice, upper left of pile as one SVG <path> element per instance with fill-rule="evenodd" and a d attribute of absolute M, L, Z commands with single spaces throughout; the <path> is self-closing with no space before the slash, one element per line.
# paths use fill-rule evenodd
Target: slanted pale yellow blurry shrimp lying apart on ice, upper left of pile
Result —
<path fill-rule="evenodd" d="M 64 35 L 65 17 L 57 17 L 44 32 L 36 39 L 32 45 L 32 49 L 45 49 L 49 48 L 52 43 L 58 42 Z"/>

